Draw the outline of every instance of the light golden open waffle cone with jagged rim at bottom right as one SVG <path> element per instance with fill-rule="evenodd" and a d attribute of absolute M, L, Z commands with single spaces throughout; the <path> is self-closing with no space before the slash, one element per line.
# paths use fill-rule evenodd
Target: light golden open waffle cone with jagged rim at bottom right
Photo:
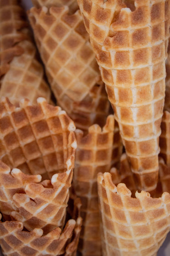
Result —
<path fill-rule="evenodd" d="M 156 256 L 170 230 L 170 194 L 131 197 L 125 184 L 116 187 L 110 173 L 98 175 L 103 227 L 103 255 Z"/>

